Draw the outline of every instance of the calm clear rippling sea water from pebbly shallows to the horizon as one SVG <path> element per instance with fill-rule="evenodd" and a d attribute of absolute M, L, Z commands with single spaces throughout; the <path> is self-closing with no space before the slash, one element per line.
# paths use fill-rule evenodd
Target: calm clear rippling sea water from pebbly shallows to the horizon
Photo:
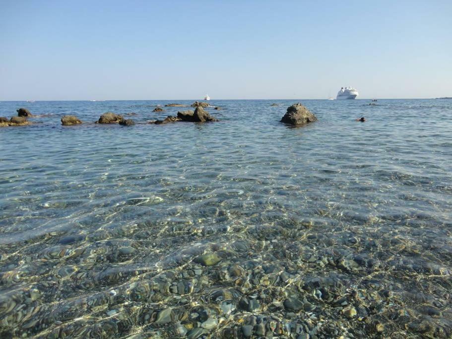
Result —
<path fill-rule="evenodd" d="M 451 338 L 452 100 L 171 102 L 0 103 L 1 338 Z"/>

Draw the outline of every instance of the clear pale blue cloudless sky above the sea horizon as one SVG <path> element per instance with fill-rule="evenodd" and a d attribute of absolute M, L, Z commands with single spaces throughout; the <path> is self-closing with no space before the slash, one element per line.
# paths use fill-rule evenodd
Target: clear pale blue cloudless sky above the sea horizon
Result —
<path fill-rule="evenodd" d="M 0 0 L 0 101 L 452 96 L 452 1 Z"/>

